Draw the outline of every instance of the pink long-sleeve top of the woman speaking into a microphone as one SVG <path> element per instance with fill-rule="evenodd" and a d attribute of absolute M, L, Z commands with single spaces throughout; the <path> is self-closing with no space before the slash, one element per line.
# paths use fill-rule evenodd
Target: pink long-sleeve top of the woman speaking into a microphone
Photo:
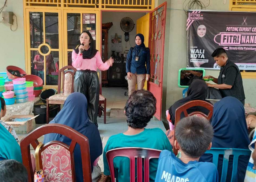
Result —
<path fill-rule="evenodd" d="M 101 55 L 99 51 L 91 59 L 83 59 L 83 55 L 76 54 L 73 50 L 72 52 L 72 66 L 77 70 L 91 70 L 97 71 L 97 67 L 101 71 L 108 70 L 109 65 L 102 62 Z"/>

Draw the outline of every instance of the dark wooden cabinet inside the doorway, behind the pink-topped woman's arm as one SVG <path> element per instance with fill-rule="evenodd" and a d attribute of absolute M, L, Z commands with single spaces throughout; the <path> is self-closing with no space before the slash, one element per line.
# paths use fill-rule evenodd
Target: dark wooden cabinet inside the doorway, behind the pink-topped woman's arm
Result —
<path fill-rule="evenodd" d="M 101 50 L 101 58 L 105 63 L 108 60 L 108 31 L 110 27 L 112 27 L 113 23 L 102 23 L 102 50 Z M 102 86 L 108 84 L 108 71 L 102 71 Z"/>

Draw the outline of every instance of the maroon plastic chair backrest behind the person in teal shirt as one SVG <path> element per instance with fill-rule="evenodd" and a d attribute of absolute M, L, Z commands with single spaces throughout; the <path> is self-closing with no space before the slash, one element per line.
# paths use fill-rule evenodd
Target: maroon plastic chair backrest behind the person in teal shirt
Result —
<path fill-rule="evenodd" d="M 137 164 L 137 182 L 142 182 L 142 159 L 144 159 L 144 182 L 149 182 L 149 160 L 153 158 L 159 158 L 160 153 L 161 150 L 140 147 L 123 147 L 109 150 L 106 153 L 106 158 L 108 160 L 112 181 L 115 181 L 113 159 L 115 157 L 121 156 L 128 157 L 130 159 L 130 182 L 135 182 L 135 162 Z"/>

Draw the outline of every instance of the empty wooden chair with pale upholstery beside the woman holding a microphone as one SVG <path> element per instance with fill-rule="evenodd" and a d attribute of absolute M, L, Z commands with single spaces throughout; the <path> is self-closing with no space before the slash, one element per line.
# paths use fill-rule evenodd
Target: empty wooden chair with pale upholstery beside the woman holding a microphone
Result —
<path fill-rule="evenodd" d="M 67 71 L 65 71 L 67 70 Z M 68 71 L 68 70 L 73 70 Z M 58 77 L 58 94 L 50 96 L 46 100 L 46 123 L 49 123 L 49 104 L 64 104 L 67 97 L 74 92 L 74 76 L 76 73 L 76 68 L 72 66 L 65 66 L 59 70 L 59 77 Z M 61 76 L 63 75 L 62 79 L 62 90 L 61 93 Z"/>

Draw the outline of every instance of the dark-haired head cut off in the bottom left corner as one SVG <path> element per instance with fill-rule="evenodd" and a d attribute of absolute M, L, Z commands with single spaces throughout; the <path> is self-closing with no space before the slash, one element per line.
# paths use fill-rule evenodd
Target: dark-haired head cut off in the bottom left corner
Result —
<path fill-rule="evenodd" d="M 0 182 L 27 182 L 27 170 L 15 160 L 0 161 Z"/>

